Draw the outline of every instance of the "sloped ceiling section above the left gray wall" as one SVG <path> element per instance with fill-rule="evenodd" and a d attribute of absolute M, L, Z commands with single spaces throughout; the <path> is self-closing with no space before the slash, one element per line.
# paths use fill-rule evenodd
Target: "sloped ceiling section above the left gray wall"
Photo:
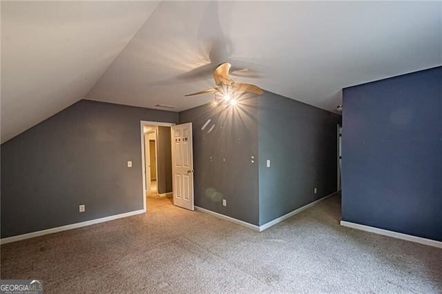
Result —
<path fill-rule="evenodd" d="M 84 98 L 160 1 L 1 1 L 1 142 Z"/>

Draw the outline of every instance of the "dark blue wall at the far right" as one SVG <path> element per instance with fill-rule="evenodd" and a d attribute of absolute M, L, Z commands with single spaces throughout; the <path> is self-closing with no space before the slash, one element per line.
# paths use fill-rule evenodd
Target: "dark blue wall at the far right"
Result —
<path fill-rule="evenodd" d="M 343 90 L 343 220 L 442 241 L 442 67 Z"/>

